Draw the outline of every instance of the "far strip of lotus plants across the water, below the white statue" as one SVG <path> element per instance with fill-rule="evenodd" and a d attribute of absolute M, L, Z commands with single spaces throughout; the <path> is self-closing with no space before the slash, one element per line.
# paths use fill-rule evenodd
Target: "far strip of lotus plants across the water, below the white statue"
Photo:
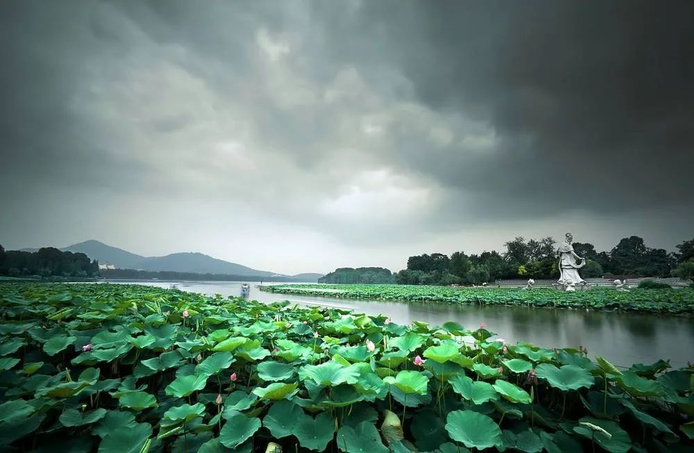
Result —
<path fill-rule="evenodd" d="M 412 285 L 272 285 L 271 293 L 345 297 L 348 299 L 411 300 L 452 304 L 489 304 L 589 308 L 602 311 L 644 313 L 694 313 L 694 291 L 690 288 L 649 290 L 634 288 L 620 293 L 614 288 L 568 293 L 550 288 L 526 291 L 521 288 L 455 288 Z"/>

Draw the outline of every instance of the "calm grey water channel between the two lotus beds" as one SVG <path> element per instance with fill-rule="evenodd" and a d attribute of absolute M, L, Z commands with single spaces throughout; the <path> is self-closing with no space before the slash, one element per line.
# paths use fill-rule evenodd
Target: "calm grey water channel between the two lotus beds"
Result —
<path fill-rule="evenodd" d="M 115 281 L 169 288 L 172 284 L 192 293 L 240 295 L 237 281 Z M 455 321 L 466 328 L 480 322 L 500 338 L 527 341 L 543 347 L 588 348 L 589 356 L 604 356 L 620 366 L 670 359 L 674 366 L 694 362 L 694 317 L 554 310 L 516 306 L 466 306 L 421 302 L 330 299 L 263 293 L 251 284 L 249 299 L 259 302 L 290 300 L 306 306 L 334 306 L 368 315 L 387 315 L 398 324 L 413 320 L 441 325 Z"/>

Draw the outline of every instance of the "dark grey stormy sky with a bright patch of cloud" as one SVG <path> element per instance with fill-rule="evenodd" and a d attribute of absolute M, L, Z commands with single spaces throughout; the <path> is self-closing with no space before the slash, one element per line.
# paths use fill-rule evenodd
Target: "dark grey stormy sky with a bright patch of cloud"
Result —
<path fill-rule="evenodd" d="M 691 1 L 0 6 L 0 244 L 285 274 L 694 237 Z"/>

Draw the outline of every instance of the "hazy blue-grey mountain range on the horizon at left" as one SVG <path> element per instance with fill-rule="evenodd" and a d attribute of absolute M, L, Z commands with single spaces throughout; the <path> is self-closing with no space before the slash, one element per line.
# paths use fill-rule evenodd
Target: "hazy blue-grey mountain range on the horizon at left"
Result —
<path fill-rule="evenodd" d="M 23 250 L 25 252 L 36 252 L 38 249 Z M 99 264 L 109 263 L 120 269 L 138 269 L 153 272 L 194 272 L 196 274 L 253 275 L 258 277 L 291 277 L 306 280 L 317 280 L 323 277 L 323 274 L 284 275 L 267 270 L 257 270 L 197 252 L 181 252 L 167 256 L 142 256 L 118 247 L 112 247 L 98 240 L 87 240 L 79 244 L 63 247 L 60 250 L 63 252 L 81 252 L 93 260 L 99 261 Z"/>

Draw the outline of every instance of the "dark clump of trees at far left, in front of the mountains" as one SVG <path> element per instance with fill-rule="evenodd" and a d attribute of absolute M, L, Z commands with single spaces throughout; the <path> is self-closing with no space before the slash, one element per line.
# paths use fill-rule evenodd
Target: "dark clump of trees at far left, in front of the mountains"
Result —
<path fill-rule="evenodd" d="M 0 245 L 0 275 L 84 278 L 98 274 L 99 263 L 83 253 L 60 252 L 53 247 L 44 247 L 38 252 L 6 251 Z"/>

